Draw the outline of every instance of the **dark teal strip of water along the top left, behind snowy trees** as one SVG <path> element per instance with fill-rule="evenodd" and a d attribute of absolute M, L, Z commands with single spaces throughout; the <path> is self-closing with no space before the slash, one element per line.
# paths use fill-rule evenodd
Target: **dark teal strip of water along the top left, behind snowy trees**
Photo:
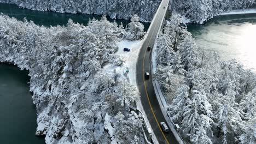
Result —
<path fill-rule="evenodd" d="M 33 11 L 29 9 L 20 9 L 14 4 L 0 4 L 0 13 L 8 15 L 10 17 L 15 17 L 18 20 L 23 20 L 26 17 L 27 20 L 32 20 L 37 25 L 57 26 L 57 25 L 66 25 L 68 19 L 72 19 L 73 22 L 82 23 L 87 25 L 90 19 L 100 20 L 101 16 L 99 15 L 87 15 L 87 14 L 62 14 L 54 13 L 52 11 Z M 124 27 L 130 23 L 129 20 L 113 20 L 107 17 L 109 21 L 116 21 L 118 24 L 123 23 Z M 150 23 L 143 22 L 144 31 L 148 30 Z"/>

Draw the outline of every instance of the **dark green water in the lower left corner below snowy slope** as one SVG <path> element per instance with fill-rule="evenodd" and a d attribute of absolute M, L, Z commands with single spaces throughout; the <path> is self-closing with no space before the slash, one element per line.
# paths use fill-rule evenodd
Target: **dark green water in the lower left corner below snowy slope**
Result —
<path fill-rule="evenodd" d="M 0 143 L 44 143 L 35 136 L 37 122 L 32 95 L 28 90 L 28 71 L 0 64 Z"/>

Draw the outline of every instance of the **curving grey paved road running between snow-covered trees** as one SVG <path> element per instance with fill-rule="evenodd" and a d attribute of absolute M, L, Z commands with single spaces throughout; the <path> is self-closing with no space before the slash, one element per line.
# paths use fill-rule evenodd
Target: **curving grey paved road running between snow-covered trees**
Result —
<path fill-rule="evenodd" d="M 159 6 L 159 10 L 156 13 L 155 19 L 151 23 L 152 26 L 148 31 L 148 36 L 142 45 L 141 52 L 139 53 L 137 61 L 137 84 L 139 92 L 141 93 L 142 105 L 148 117 L 149 123 L 160 144 L 174 144 L 178 142 L 172 134 L 172 131 L 164 133 L 160 128 L 159 123 L 166 121 L 162 115 L 158 100 L 156 99 L 152 77 L 150 76 L 150 79 L 146 80 L 144 78 L 144 73 L 146 71 L 150 73 L 151 51 L 147 51 L 147 47 L 150 45 L 153 48 L 154 46 L 154 41 L 156 39 L 159 28 L 161 28 L 161 20 L 166 14 L 169 1 L 170 0 L 162 0 Z"/>

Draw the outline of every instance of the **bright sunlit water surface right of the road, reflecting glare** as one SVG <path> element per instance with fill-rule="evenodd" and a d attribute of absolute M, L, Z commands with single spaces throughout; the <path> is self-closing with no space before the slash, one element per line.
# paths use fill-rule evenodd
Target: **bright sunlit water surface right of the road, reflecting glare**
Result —
<path fill-rule="evenodd" d="M 256 70 L 256 14 L 217 16 L 205 25 L 190 25 L 188 30 L 202 49 Z"/>

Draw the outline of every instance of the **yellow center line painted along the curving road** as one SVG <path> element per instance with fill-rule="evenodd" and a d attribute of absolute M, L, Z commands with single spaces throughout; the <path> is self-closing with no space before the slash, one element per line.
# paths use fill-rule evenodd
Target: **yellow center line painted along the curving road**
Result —
<path fill-rule="evenodd" d="M 161 7 L 161 5 L 160 5 L 160 7 Z M 158 21 L 158 20 L 159 20 L 159 17 L 157 18 L 157 21 Z M 152 24 L 153 24 L 153 23 L 152 23 Z M 153 25 L 152 25 L 152 26 L 153 26 Z M 154 31 L 155 31 L 155 27 L 154 27 L 154 29 L 153 29 L 153 33 L 154 33 Z M 152 35 L 153 35 L 153 34 L 152 34 Z M 161 129 L 161 127 L 160 127 L 160 124 L 159 124 L 159 122 L 158 122 L 158 119 L 157 119 L 156 116 L 155 116 L 155 112 L 154 112 L 153 107 L 152 107 L 152 104 L 151 104 L 151 102 L 150 102 L 150 100 L 149 100 L 148 91 L 147 91 L 147 87 L 146 87 L 146 81 L 145 81 L 145 77 L 144 77 L 144 63 L 145 63 L 145 57 L 146 57 L 146 53 L 147 53 L 147 49 L 148 49 L 150 40 L 152 39 L 152 35 L 150 36 L 150 39 L 149 39 L 149 41 L 148 41 L 148 45 L 147 45 L 147 47 L 146 47 L 146 50 L 145 50 L 145 53 L 144 53 L 144 58 L 143 58 L 143 71 L 142 71 L 142 73 L 143 73 L 143 82 L 144 82 L 144 87 L 145 87 L 145 91 L 146 91 L 148 103 L 149 103 L 150 109 L 151 109 L 151 111 L 152 111 L 152 113 L 153 113 L 153 116 L 154 116 L 154 118 L 155 118 L 155 121 L 156 121 L 156 123 L 158 124 L 158 127 L 159 127 L 159 129 L 160 129 L 160 131 L 161 131 L 161 133 L 162 133 L 162 136 L 164 136 L 164 138 L 165 138 L 167 144 L 170 144 L 170 143 L 168 142 L 168 140 L 167 140 L 167 138 L 166 138 L 164 132 L 162 131 L 162 129 Z M 153 49 L 153 47 L 152 47 L 152 49 Z"/>

